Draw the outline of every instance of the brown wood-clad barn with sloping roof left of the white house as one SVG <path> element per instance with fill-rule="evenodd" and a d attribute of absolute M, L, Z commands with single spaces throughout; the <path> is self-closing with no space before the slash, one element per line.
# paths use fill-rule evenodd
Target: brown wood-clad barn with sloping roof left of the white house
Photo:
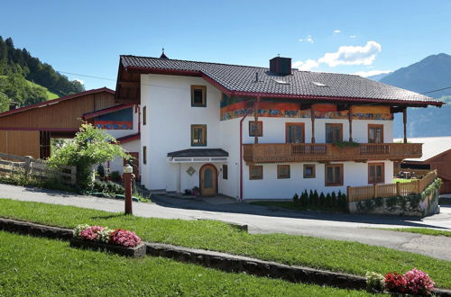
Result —
<path fill-rule="evenodd" d="M 0 113 L 0 152 L 50 157 L 51 138 L 72 138 L 83 115 L 117 105 L 106 87 Z"/>

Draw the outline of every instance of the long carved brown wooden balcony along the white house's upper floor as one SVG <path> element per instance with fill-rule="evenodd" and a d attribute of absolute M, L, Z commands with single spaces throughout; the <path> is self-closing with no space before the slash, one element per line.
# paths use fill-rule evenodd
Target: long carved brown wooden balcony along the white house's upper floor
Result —
<path fill-rule="evenodd" d="M 338 147 L 331 143 L 259 143 L 244 144 L 246 163 L 334 162 L 369 160 L 399 161 L 421 157 L 421 143 L 360 143 L 356 147 Z"/>

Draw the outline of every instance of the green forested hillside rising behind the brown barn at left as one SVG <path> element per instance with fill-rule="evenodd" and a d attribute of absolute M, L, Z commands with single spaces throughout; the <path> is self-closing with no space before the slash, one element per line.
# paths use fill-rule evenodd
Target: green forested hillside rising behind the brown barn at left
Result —
<path fill-rule="evenodd" d="M 0 112 L 11 103 L 22 107 L 82 91 L 78 81 L 69 81 L 27 49 L 15 49 L 11 38 L 0 36 Z"/>

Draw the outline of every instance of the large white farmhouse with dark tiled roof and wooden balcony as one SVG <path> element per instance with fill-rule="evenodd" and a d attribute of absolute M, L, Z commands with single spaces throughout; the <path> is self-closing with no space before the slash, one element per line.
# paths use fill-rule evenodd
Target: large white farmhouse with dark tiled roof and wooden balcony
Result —
<path fill-rule="evenodd" d="M 151 190 L 290 199 L 304 189 L 391 183 L 394 112 L 440 106 L 361 76 L 121 56 L 115 100 L 140 106 L 139 167 Z"/>

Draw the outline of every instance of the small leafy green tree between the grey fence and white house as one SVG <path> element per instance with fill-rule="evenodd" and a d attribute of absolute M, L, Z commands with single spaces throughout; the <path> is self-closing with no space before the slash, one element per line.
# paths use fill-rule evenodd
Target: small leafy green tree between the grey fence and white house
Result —
<path fill-rule="evenodd" d="M 77 166 L 77 184 L 87 189 L 92 183 L 93 167 L 115 157 L 130 158 L 113 136 L 85 122 L 75 138 L 62 148 L 57 148 L 48 162 L 50 166 Z"/>

